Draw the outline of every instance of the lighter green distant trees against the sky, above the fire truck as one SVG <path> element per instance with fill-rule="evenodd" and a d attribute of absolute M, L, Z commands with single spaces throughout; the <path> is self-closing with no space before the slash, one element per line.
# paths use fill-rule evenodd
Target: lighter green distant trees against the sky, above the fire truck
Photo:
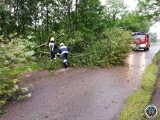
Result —
<path fill-rule="evenodd" d="M 149 31 L 149 20 L 138 11 L 129 12 L 123 0 L 108 0 L 104 9 L 106 27 L 118 27 L 131 31 Z"/>

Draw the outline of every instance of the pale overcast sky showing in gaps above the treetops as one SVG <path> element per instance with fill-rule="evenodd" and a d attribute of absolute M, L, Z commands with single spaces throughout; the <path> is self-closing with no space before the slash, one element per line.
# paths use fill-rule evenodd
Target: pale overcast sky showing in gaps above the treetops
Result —
<path fill-rule="evenodd" d="M 100 0 L 101 3 L 104 5 L 106 0 Z M 124 0 L 125 4 L 128 6 L 129 10 L 135 10 L 138 1 L 137 0 Z M 160 38 L 160 23 L 156 23 L 154 24 L 151 28 L 150 28 L 151 32 L 155 32 L 158 35 L 158 38 Z"/>

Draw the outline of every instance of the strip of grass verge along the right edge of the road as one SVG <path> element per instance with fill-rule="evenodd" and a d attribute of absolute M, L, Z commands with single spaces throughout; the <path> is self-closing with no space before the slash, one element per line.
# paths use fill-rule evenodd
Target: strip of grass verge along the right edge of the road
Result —
<path fill-rule="evenodd" d="M 160 52 L 149 64 L 142 77 L 141 88 L 133 93 L 127 100 L 126 105 L 119 115 L 119 120 L 143 120 L 144 109 L 150 103 L 155 84 L 157 82 L 158 66 Z M 160 118 L 159 118 L 160 119 Z"/>

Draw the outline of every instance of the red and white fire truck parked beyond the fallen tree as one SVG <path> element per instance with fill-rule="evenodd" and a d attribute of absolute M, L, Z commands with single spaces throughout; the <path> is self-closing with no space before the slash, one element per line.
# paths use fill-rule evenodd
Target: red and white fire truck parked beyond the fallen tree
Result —
<path fill-rule="evenodd" d="M 133 32 L 132 36 L 134 37 L 135 41 L 132 44 L 133 50 L 143 49 L 144 51 L 149 50 L 150 42 L 149 42 L 149 35 L 145 32 Z"/>

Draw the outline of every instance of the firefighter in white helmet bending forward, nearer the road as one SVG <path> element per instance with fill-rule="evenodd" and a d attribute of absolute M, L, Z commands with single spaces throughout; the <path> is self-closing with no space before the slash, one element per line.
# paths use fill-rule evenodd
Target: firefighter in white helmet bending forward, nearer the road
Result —
<path fill-rule="evenodd" d="M 68 47 L 65 46 L 64 43 L 61 43 L 57 54 L 62 55 L 62 61 L 63 61 L 64 68 L 67 68 L 69 66 L 68 61 L 67 61 L 68 51 L 69 51 Z"/>

